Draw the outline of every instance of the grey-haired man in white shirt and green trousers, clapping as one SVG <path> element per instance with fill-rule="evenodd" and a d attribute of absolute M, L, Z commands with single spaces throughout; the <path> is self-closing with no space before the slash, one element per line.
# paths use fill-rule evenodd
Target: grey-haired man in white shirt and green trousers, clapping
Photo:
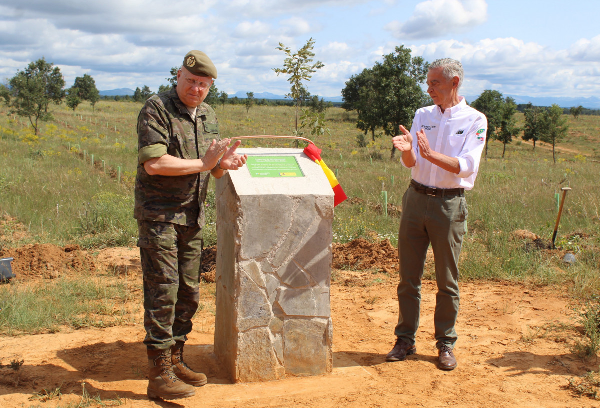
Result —
<path fill-rule="evenodd" d="M 427 92 L 434 105 L 417 110 L 410 132 L 400 125 L 401 134 L 392 139 L 402 152 L 401 163 L 411 169 L 412 181 L 402 199 L 397 340 L 387 361 L 402 361 L 416 353 L 421 277 L 431 242 L 437 281 L 437 366 L 442 370 L 457 366 L 452 349 L 457 340 L 457 263 L 467 218 L 464 190 L 473 188 L 487 131 L 485 115 L 458 95 L 463 77 L 459 61 L 434 61 L 427 74 Z"/>

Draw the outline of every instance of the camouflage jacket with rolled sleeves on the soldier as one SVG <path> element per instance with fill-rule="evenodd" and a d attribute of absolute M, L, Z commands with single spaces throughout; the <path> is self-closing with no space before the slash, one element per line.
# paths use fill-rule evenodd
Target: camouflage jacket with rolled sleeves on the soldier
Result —
<path fill-rule="evenodd" d="M 185 176 L 149 175 L 143 163 L 164 154 L 203 157 L 212 139 L 220 139 L 217 115 L 208 104 L 193 120 L 175 88 L 148 98 L 137 118 L 138 160 L 134 218 L 204 226 L 204 200 L 210 172 Z"/>

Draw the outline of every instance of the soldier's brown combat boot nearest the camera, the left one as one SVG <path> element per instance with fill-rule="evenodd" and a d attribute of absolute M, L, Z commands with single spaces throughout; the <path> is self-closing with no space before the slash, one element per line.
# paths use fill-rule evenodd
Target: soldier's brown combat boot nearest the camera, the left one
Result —
<path fill-rule="evenodd" d="M 148 397 L 176 400 L 196 394 L 194 387 L 175 376 L 171 350 L 148 350 Z"/>

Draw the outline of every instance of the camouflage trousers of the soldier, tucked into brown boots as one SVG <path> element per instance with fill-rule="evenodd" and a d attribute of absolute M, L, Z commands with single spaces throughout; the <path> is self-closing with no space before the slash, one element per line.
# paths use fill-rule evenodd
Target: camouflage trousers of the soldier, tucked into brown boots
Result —
<path fill-rule="evenodd" d="M 168 349 L 187 340 L 199 304 L 202 228 L 137 220 L 144 281 L 144 344 Z"/>

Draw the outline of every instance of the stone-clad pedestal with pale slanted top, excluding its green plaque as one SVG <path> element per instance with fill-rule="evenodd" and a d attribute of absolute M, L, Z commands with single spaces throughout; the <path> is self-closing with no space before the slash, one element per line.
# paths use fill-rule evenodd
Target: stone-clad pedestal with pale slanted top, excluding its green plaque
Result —
<path fill-rule="evenodd" d="M 331 373 L 331 186 L 302 149 L 238 152 L 293 155 L 304 176 L 217 179 L 215 353 L 236 382 Z"/>

